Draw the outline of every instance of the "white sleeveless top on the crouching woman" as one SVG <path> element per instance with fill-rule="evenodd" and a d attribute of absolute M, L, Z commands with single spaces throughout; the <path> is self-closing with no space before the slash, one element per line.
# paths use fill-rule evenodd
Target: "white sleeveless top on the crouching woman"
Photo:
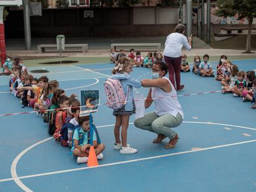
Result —
<path fill-rule="evenodd" d="M 158 88 L 158 87 L 152 87 L 152 93 L 151 93 L 152 98 L 161 98 L 161 99 L 154 99 L 156 114 L 159 116 L 162 116 L 165 114 L 171 114 L 174 117 L 176 117 L 177 114 L 180 113 L 182 115 L 182 119 L 184 119 L 184 114 L 181 108 L 181 104 L 179 104 L 179 101 L 177 99 L 177 93 L 173 84 L 168 78 L 166 77 L 163 77 L 163 78 L 169 81 L 171 85 L 171 93 L 166 93 L 165 91 L 163 91 L 161 88 Z"/>

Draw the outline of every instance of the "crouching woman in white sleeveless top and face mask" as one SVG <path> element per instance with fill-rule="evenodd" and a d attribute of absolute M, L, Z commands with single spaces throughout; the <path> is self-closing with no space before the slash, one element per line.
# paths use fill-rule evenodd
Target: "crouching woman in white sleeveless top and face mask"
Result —
<path fill-rule="evenodd" d="M 142 80 L 142 86 L 150 87 L 145 108 L 155 102 L 155 111 L 134 121 L 135 127 L 156 133 L 158 136 L 153 143 L 161 143 L 164 138 L 170 139 L 165 148 L 174 148 L 178 135 L 171 128 L 181 125 L 184 119 L 181 104 L 177 100 L 177 93 L 171 81 L 164 77 L 168 73 L 168 66 L 159 61 L 153 65 L 152 79 Z M 155 99 L 158 98 L 158 99 Z"/>

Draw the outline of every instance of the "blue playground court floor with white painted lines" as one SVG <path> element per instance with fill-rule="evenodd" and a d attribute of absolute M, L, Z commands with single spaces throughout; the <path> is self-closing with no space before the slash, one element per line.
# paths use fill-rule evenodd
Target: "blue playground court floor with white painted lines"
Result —
<path fill-rule="evenodd" d="M 239 70 L 256 69 L 256 59 L 232 62 Z M 216 69 L 217 62 L 211 64 Z M 49 73 L 31 74 L 58 80 L 67 95 L 100 90 L 100 102 L 106 102 L 103 83 L 113 64 L 28 70 L 43 68 Z M 185 119 L 174 128 L 180 138 L 176 147 L 164 149 L 168 139 L 153 144 L 156 135 L 136 128 L 132 115 L 127 141 L 138 152 L 119 154 L 113 149 L 113 111 L 101 105 L 93 114 L 93 123 L 106 146 L 98 167 L 76 164 L 69 156 L 70 149 L 48 135 L 47 124 L 35 113 L 0 117 L 0 191 L 256 191 L 256 111 L 250 109 L 252 104 L 233 94 L 205 93 L 221 90 L 215 78 L 192 72 L 181 75 L 186 87 L 177 94 Z M 151 78 L 150 70 L 143 67 L 134 67 L 131 76 Z M 0 76 L 0 114 L 33 111 L 21 108 L 19 99 L 9 93 L 8 80 Z M 146 97 L 148 88 L 134 93 Z M 152 105 L 146 112 L 154 110 Z"/>

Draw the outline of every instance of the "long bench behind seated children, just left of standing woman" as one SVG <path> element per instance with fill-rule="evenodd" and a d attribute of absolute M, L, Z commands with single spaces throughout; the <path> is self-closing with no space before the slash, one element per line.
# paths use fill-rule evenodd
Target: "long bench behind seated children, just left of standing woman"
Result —
<path fill-rule="evenodd" d="M 146 48 L 147 51 L 161 51 L 161 43 L 113 43 L 111 49 L 124 49 L 130 51 L 131 48 Z M 130 49 L 125 49 L 130 48 Z M 153 48 L 153 49 L 152 49 Z M 116 49 L 117 50 L 117 49 Z M 136 51 L 144 51 L 145 49 L 136 49 Z"/>

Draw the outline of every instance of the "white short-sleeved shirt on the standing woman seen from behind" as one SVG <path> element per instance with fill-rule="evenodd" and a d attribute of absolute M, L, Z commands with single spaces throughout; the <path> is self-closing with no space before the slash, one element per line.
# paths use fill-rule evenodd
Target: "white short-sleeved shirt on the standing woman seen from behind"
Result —
<path fill-rule="evenodd" d="M 164 46 L 163 54 L 167 57 L 181 57 L 181 48 L 183 46 L 189 51 L 191 49 L 187 37 L 181 33 L 171 33 L 168 35 Z"/>

